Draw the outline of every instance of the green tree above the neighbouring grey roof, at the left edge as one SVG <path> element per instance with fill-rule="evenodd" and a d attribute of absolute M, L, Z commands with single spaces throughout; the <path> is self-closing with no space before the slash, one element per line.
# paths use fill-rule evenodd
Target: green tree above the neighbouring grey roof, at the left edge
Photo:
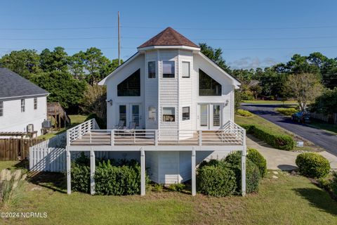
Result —
<path fill-rule="evenodd" d="M 39 68 L 40 56 L 35 50 L 23 49 L 12 51 L 0 59 L 0 67 L 8 68 L 22 77 L 30 79 L 32 75 L 41 72 Z"/>

